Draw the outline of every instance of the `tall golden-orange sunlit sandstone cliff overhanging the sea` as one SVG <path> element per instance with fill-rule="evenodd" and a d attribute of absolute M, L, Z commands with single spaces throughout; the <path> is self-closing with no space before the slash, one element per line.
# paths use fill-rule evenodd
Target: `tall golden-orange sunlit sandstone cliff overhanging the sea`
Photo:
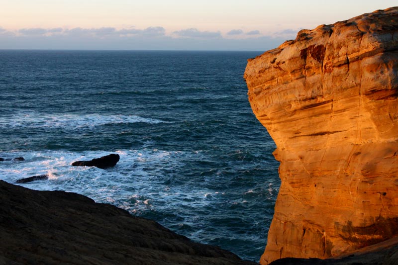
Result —
<path fill-rule="evenodd" d="M 247 64 L 281 162 L 261 264 L 328 258 L 398 234 L 398 7 L 301 30 Z"/>

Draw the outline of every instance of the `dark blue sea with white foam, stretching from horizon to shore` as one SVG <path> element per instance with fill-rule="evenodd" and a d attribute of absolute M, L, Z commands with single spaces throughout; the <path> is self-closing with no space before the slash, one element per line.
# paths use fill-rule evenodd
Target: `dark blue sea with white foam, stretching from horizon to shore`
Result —
<path fill-rule="evenodd" d="M 243 80 L 260 52 L 0 51 L 0 178 L 74 191 L 258 261 L 279 188 Z M 118 153 L 108 170 L 77 167 Z"/>

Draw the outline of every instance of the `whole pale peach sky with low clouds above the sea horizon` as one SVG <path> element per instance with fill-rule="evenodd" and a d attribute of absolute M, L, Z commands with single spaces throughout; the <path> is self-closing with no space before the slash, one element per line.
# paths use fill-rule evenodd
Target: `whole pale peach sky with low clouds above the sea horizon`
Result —
<path fill-rule="evenodd" d="M 0 0 L 0 49 L 256 50 L 397 0 Z"/>

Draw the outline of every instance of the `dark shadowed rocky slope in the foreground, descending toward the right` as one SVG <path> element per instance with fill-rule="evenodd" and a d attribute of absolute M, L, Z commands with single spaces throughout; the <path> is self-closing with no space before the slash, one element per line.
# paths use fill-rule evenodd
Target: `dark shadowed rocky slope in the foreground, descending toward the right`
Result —
<path fill-rule="evenodd" d="M 0 264 L 255 264 L 83 195 L 1 180 L 0 239 Z"/>

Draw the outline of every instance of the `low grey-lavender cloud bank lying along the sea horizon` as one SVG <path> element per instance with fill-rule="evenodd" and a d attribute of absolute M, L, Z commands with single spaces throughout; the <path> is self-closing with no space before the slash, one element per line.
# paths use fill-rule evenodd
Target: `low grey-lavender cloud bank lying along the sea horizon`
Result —
<path fill-rule="evenodd" d="M 100 28 L 21 28 L 0 27 L 0 49 L 115 49 L 115 50 L 265 50 L 287 38 L 294 39 L 298 30 L 262 35 L 259 30 L 232 29 L 226 34 L 186 28 L 167 33 L 161 26 L 144 29 Z"/>

